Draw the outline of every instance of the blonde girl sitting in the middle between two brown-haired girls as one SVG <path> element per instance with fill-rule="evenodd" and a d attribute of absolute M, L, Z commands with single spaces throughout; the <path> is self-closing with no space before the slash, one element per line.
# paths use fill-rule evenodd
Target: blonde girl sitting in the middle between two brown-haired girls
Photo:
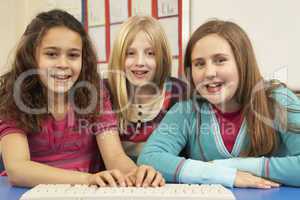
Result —
<path fill-rule="evenodd" d="M 133 160 L 165 113 L 186 96 L 185 83 L 170 75 L 171 55 L 162 26 L 150 16 L 129 18 L 114 41 L 109 88 L 122 144 Z"/>

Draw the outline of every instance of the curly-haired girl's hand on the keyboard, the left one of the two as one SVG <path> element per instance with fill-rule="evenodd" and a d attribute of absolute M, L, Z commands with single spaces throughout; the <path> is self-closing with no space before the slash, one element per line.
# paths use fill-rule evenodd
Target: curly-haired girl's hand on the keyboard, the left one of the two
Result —
<path fill-rule="evenodd" d="M 100 187 L 125 187 L 126 180 L 124 175 L 119 170 L 106 170 L 91 174 L 88 177 L 89 185 L 98 185 Z"/>

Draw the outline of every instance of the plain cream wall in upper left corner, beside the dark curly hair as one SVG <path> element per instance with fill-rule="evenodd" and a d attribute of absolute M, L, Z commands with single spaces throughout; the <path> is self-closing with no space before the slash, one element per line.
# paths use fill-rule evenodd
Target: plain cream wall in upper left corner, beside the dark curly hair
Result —
<path fill-rule="evenodd" d="M 10 69 L 15 47 L 31 19 L 42 11 L 81 5 L 81 0 L 0 0 L 0 75 Z M 81 19 L 81 12 L 76 13 Z"/>

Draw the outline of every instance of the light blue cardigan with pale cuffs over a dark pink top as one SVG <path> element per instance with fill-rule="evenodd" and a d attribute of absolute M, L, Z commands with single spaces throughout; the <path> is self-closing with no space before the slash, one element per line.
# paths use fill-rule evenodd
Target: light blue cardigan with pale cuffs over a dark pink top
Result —
<path fill-rule="evenodd" d="M 288 112 L 287 120 L 292 127 L 299 128 L 297 96 L 280 87 L 272 92 L 272 97 L 284 108 L 294 110 Z M 249 145 L 247 122 L 243 121 L 233 150 L 228 152 L 211 105 L 202 103 L 200 112 L 195 105 L 199 106 L 189 100 L 169 110 L 148 139 L 138 164 L 152 165 L 167 182 L 219 183 L 233 187 L 236 170 L 242 170 L 282 184 L 300 186 L 300 132 L 283 130 L 279 120 L 275 120 L 272 124 L 280 138 L 277 152 L 271 157 L 240 158 Z M 182 150 L 187 159 L 179 156 Z"/>

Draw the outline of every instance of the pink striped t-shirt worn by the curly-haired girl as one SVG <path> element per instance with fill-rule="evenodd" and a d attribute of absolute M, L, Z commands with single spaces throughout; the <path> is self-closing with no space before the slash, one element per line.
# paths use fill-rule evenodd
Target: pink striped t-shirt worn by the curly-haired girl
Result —
<path fill-rule="evenodd" d="M 103 112 L 93 123 L 76 119 L 73 109 L 60 121 L 49 115 L 38 133 L 25 133 L 15 123 L 0 120 L 0 139 L 12 133 L 26 134 L 32 161 L 63 169 L 96 172 L 103 166 L 100 166 L 95 135 L 117 130 L 109 93 L 106 89 L 103 91 Z"/>

